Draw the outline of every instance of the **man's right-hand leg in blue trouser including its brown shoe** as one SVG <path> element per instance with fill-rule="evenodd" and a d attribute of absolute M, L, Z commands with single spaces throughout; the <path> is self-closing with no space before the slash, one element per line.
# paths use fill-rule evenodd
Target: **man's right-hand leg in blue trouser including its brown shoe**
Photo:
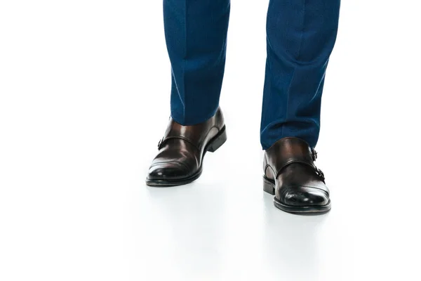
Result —
<path fill-rule="evenodd" d="M 328 211 L 323 173 L 314 166 L 328 59 L 340 0 L 270 0 L 260 141 L 265 190 L 284 211 Z"/>

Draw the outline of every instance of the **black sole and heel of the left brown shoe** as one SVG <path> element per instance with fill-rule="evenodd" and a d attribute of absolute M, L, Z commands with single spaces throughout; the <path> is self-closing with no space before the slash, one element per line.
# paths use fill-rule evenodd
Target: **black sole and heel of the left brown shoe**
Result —
<path fill-rule="evenodd" d="M 146 184 L 149 186 L 159 187 L 159 188 L 166 188 L 171 186 L 177 185 L 185 185 L 187 183 L 192 183 L 196 181 L 199 176 L 202 174 L 202 166 L 203 166 L 203 158 L 206 155 L 206 152 L 215 152 L 220 148 L 225 141 L 227 141 L 227 131 L 225 131 L 225 125 L 222 127 L 221 131 L 218 135 L 214 136 L 212 140 L 206 145 L 205 150 L 202 155 L 201 166 L 199 167 L 199 171 L 196 171 L 192 176 L 187 178 L 178 178 L 178 179 L 170 179 L 170 180 L 158 180 L 158 179 L 146 179 Z"/>

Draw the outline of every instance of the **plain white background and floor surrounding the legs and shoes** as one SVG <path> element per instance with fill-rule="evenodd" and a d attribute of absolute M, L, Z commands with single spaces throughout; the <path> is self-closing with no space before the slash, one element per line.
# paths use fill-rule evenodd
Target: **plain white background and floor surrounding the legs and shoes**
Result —
<path fill-rule="evenodd" d="M 228 141 L 147 188 L 169 116 L 162 1 L 0 1 L 0 280 L 420 280 L 416 1 L 342 1 L 317 165 L 333 209 L 262 192 L 267 1 L 233 0 Z"/>

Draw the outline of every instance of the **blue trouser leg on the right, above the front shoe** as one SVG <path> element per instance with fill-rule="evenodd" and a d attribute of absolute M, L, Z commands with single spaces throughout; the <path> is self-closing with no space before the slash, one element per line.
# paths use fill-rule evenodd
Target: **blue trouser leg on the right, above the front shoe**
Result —
<path fill-rule="evenodd" d="M 261 143 L 266 150 L 295 136 L 316 146 L 328 59 L 340 0 L 271 0 Z"/>

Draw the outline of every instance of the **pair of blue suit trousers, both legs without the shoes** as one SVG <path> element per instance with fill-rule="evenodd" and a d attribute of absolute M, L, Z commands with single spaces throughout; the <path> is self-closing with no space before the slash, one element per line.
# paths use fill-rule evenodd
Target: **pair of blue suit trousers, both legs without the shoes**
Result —
<path fill-rule="evenodd" d="M 199 124 L 218 109 L 229 8 L 229 0 L 163 0 L 171 116 L 180 124 Z M 260 127 L 264 150 L 288 136 L 316 146 L 339 8 L 340 0 L 270 0 Z"/>

